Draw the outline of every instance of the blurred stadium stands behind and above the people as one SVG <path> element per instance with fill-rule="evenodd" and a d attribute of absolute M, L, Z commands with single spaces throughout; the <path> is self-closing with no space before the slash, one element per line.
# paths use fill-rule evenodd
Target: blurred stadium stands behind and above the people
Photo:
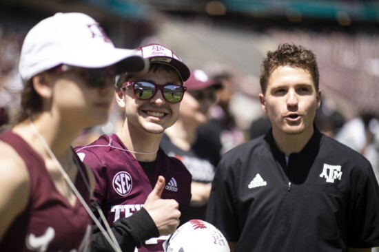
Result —
<path fill-rule="evenodd" d="M 345 115 L 379 112 L 378 1 L 2 0 L 0 87 L 12 87 L 12 97 L 19 86 L 8 75 L 16 70 L 25 32 L 54 12 L 68 11 L 92 15 L 116 46 L 158 41 L 191 67 L 209 61 L 232 67 L 241 79 L 236 89 L 248 96 L 257 92 L 265 52 L 278 43 L 301 43 L 316 52 L 320 87 Z M 0 107 L 9 101 L 16 100 L 1 98 Z"/>

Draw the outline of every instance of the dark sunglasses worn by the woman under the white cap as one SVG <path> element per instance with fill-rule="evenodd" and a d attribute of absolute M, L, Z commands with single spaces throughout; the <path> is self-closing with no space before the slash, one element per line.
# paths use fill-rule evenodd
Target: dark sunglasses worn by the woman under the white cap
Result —
<path fill-rule="evenodd" d="M 113 85 L 115 72 L 111 67 L 102 68 L 83 68 L 73 67 L 71 65 L 58 65 L 57 67 L 48 70 L 49 72 L 78 72 L 79 75 L 85 79 L 88 87 L 107 87 L 110 83 Z"/>

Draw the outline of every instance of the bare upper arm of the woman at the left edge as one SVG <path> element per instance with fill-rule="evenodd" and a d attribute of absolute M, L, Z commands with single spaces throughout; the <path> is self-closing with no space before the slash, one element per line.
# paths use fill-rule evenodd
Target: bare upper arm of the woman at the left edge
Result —
<path fill-rule="evenodd" d="M 0 143 L 0 242 L 28 204 L 30 178 L 25 163 L 14 150 Z"/>

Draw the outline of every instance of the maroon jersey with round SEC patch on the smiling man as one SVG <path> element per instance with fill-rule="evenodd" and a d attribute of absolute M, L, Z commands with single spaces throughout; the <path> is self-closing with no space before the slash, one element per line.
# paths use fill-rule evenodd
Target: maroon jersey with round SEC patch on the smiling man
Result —
<path fill-rule="evenodd" d="M 116 134 L 101 136 L 86 147 L 76 147 L 78 156 L 91 167 L 96 178 L 94 200 L 99 202 L 109 224 L 139 211 L 154 188 L 158 176 L 165 178 L 164 199 L 174 199 L 179 210 L 189 207 L 192 177 L 183 163 L 158 150 L 152 174 L 145 173 Z M 139 251 L 163 251 L 166 237 L 144 242 Z"/>

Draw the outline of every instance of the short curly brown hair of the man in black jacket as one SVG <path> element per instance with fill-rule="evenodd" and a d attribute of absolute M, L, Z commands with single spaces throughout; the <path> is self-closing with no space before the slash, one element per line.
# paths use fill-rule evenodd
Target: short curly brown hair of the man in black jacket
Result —
<path fill-rule="evenodd" d="M 267 52 L 260 67 L 260 89 L 263 94 L 266 92 L 267 82 L 272 72 L 285 65 L 307 70 L 312 76 L 316 91 L 318 91 L 320 76 L 314 52 L 301 45 L 283 43 L 278 46 L 277 50 Z"/>

